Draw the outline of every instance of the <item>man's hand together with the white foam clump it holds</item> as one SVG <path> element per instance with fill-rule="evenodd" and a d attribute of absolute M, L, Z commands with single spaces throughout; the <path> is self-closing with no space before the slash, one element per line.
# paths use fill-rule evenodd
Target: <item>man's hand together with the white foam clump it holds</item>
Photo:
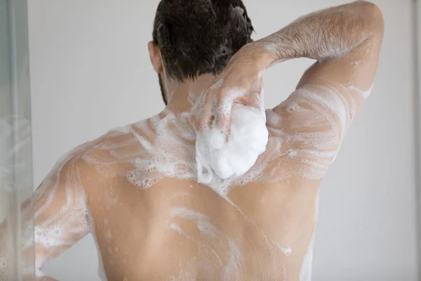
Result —
<path fill-rule="evenodd" d="M 192 110 L 197 178 L 213 188 L 219 186 L 213 184 L 215 176 L 225 180 L 245 174 L 267 145 L 263 68 L 250 55 L 252 50 L 234 55 Z"/>

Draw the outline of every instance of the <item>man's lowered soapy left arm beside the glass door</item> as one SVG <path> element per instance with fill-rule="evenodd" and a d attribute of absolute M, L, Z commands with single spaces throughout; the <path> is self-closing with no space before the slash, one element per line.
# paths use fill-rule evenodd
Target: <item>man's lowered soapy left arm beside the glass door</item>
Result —
<path fill-rule="evenodd" d="M 86 206 L 85 192 L 81 185 L 79 174 L 79 156 L 81 151 L 76 149 L 66 157 L 60 159 L 53 171 L 41 183 L 34 194 L 34 228 L 29 218 L 32 216 L 31 204 L 23 204 L 22 231 L 34 231 L 35 243 L 35 270 L 37 281 L 52 281 L 41 273 L 41 267 L 81 240 L 89 232 L 88 208 Z M 5 231 L 7 224 L 3 223 L 0 228 Z M 32 251 L 30 244 L 22 243 L 22 256 L 25 252 Z M 0 247 L 1 250 L 1 247 Z M 30 253 L 29 253 L 30 254 Z M 0 255 L 5 256 L 5 249 Z M 0 260 L 1 260 L 0 256 Z M 4 269 L 7 268 L 7 261 L 4 261 Z M 1 266 L 0 266 L 1 267 Z M 24 273 L 28 280 L 32 280 L 32 273 L 26 268 L 32 268 L 31 264 L 23 264 Z M 26 268 L 25 268 L 26 267 Z M 3 276 L 1 276 L 3 274 Z M 0 270 L 0 280 L 6 278 L 6 272 Z"/>

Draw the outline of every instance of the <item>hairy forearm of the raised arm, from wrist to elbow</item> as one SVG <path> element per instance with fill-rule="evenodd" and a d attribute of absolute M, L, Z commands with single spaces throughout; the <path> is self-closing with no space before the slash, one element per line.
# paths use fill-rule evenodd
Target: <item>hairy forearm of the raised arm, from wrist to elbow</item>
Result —
<path fill-rule="evenodd" d="M 382 29 L 382 14 L 374 4 L 356 1 L 305 15 L 279 32 L 256 41 L 268 63 L 291 58 L 335 58 Z"/>

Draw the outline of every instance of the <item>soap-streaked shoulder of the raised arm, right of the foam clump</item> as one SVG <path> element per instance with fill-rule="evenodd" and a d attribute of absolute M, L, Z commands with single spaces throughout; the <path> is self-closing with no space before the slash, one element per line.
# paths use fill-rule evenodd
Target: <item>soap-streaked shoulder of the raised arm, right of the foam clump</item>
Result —
<path fill-rule="evenodd" d="M 352 112 L 335 86 L 295 90 L 283 103 L 267 110 L 269 142 L 276 162 L 289 174 L 321 179 L 334 162 Z M 276 144 L 276 145 L 274 145 Z"/>

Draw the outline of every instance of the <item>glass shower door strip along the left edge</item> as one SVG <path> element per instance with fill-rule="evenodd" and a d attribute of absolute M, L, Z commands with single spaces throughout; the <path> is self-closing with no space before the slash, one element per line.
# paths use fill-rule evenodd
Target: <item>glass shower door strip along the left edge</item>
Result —
<path fill-rule="evenodd" d="M 34 280 L 27 1 L 0 0 L 0 280 Z"/>

